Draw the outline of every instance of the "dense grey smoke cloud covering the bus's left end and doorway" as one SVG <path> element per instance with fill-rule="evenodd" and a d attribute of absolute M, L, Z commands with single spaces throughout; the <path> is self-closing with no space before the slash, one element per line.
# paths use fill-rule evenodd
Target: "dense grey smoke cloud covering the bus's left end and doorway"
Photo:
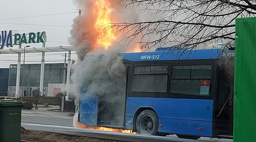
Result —
<path fill-rule="evenodd" d="M 103 104 L 99 110 L 105 110 L 102 118 L 114 117 L 116 123 L 112 125 L 115 126 L 124 122 L 121 108 L 125 108 L 126 67 L 122 60 L 116 51 L 104 55 L 87 54 L 72 74 L 76 93 L 80 94 L 78 90 L 83 87 L 87 94 L 98 96 L 99 103 Z M 84 96 L 77 97 L 86 101 Z M 112 114 L 108 112 L 109 108 L 105 109 L 105 105 L 112 106 Z"/>

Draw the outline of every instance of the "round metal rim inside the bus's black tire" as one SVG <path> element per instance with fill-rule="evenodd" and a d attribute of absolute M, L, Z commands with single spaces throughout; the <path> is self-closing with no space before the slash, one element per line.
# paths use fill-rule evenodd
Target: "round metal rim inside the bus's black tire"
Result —
<path fill-rule="evenodd" d="M 140 119 L 140 130 L 143 134 L 150 134 L 153 127 L 154 122 L 151 116 L 145 115 Z"/>

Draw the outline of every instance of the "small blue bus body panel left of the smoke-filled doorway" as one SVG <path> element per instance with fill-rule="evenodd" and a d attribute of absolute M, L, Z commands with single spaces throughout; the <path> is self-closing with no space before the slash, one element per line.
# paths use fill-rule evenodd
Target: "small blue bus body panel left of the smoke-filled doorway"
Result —
<path fill-rule="evenodd" d="M 81 103 L 78 111 L 79 122 L 91 126 L 97 126 L 98 96 L 88 95 L 86 93 L 83 93 L 80 96 Z"/>

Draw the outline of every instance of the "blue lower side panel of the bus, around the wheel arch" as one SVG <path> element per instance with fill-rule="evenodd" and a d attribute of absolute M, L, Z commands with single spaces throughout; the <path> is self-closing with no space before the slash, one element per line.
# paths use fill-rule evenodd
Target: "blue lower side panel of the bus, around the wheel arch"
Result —
<path fill-rule="evenodd" d="M 141 107 L 156 111 L 159 124 L 163 125 L 159 132 L 212 137 L 213 100 L 128 97 L 127 129 L 133 129 L 134 115 Z"/>

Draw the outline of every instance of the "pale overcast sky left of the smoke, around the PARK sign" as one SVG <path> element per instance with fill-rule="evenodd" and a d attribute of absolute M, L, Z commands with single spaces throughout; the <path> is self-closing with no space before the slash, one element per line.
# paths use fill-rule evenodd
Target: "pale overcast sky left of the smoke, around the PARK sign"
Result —
<path fill-rule="evenodd" d="M 0 4 L 1 14 L 0 19 L 24 17 L 24 16 L 35 16 L 35 15 L 46 15 L 56 13 L 67 13 L 78 11 L 76 6 L 72 3 L 72 0 L 1 0 Z M 0 31 L 18 30 L 20 34 L 30 32 L 46 32 L 47 41 L 46 46 L 68 46 L 67 37 L 70 36 L 69 32 L 71 27 L 59 27 L 59 26 L 34 26 L 34 25 L 14 25 L 14 24 L 2 24 L 2 23 L 17 23 L 17 24 L 41 24 L 41 25 L 64 25 L 71 26 L 72 20 L 78 13 L 62 14 L 62 15 L 51 15 L 51 16 L 40 16 L 40 17 L 29 17 L 22 19 L 10 19 L 0 20 Z M 55 42 L 50 42 L 55 41 Z M 31 47 L 42 47 L 42 44 L 28 44 Z M 22 47 L 26 44 L 22 44 Z M 14 46 L 13 48 L 18 48 Z M 4 47 L 4 49 L 9 49 Z M 75 53 L 75 52 L 72 52 Z M 45 60 L 63 60 L 62 55 L 51 55 L 51 54 L 62 54 L 65 52 L 49 52 L 46 53 Z M 38 56 L 37 56 L 38 55 Z M 0 68 L 9 68 L 9 64 L 17 64 L 17 62 L 2 61 L 2 60 L 17 60 L 18 54 L 1 54 L 0 55 Z M 72 59 L 77 59 L 75 54 L 72 54 Z M 21 56 L 23 61 L 23 54 Z M 26 54 L 25 61 L 37 61 L 41 60 L 41 54 Z M 25 62 L 25 63 L 40 63 L 40 62 Z M 49 62 L 46 62 L 49 63 Z M 56 63 L 56 62 L 55 62 Z"/>

